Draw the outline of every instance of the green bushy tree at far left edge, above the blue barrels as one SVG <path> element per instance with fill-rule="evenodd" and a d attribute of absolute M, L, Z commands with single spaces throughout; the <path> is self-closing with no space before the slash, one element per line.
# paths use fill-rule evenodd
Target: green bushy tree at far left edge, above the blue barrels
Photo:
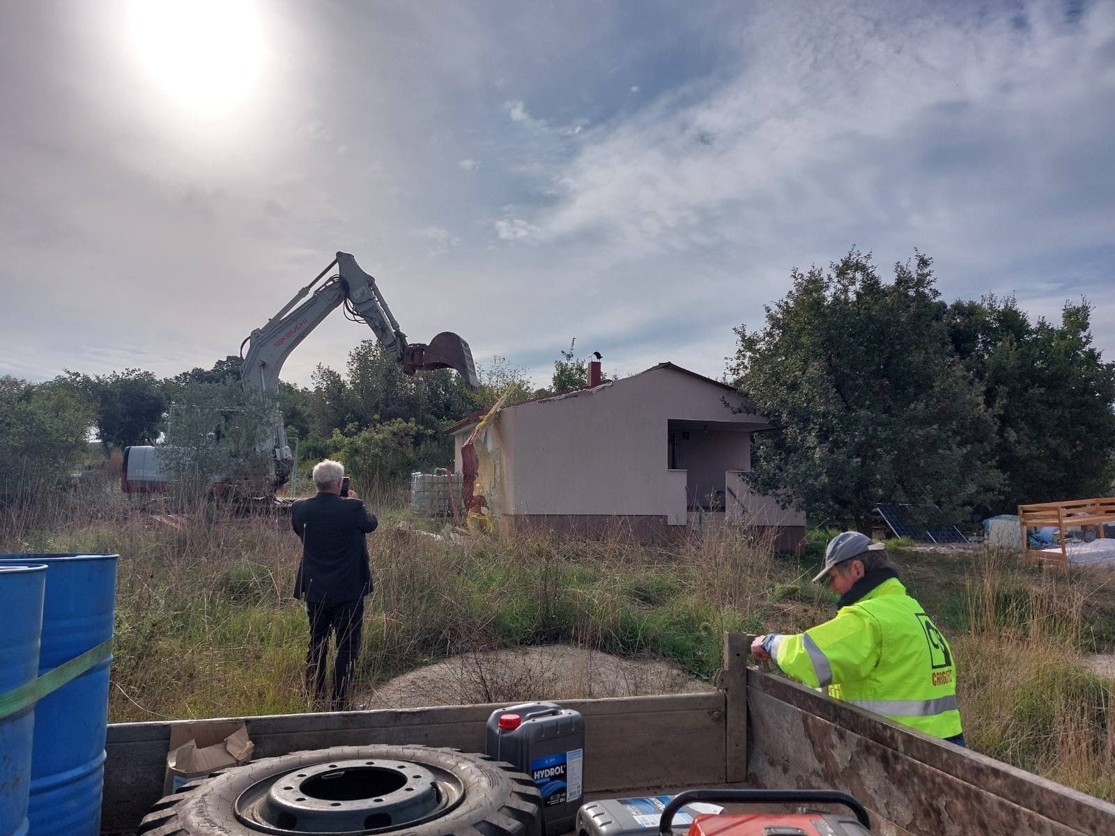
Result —
<path fill-rule="evenodd" d="M 88 451 L 96 408 L 59 381 L 0 377 L 0 503 L 19 503 L 69 477 Z"/>

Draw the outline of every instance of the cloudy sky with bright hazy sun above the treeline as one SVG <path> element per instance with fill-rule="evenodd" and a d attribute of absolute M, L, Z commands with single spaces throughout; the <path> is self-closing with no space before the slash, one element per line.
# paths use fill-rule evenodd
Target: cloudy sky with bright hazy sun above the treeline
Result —
<path fill-rule="evenodd" d="M 0 375 L 209 368 L 337 251 L 539 383 L 719 377 L 853 245 L 1115 359 L 1113 0 L 23 0 L 0 113 Z"/>

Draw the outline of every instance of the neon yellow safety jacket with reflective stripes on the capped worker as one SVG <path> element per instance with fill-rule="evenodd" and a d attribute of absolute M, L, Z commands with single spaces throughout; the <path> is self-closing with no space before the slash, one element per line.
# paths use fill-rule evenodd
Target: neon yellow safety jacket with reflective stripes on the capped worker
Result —
<path fill-rule="evenodd" d="M 828 696 L 941 738 L 961 733 L 949 643 L 921 604 L 889 577 L 836 618 L 774 635 L 772 661 Z"/>

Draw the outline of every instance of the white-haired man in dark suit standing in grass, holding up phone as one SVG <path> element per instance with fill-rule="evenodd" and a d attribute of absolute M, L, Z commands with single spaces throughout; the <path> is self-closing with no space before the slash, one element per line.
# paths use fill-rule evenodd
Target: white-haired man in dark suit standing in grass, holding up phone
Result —
<path fill-rule="evenodd" d="M 352 668 L 360 651 L 363 599 L 371 592 L 366 534 L 377 521 L 356 492 L 341 496 L 345 466 L 326 459 L 313 468 L 318 495 L 291 506 L 290 519 L 302 541 L 302 562 L 294 581 L 294 597 L 306 601 L 310 619 L 310 647 L 306 654 L 306 689 L 316 699 L 326 696 L 326 654 L 329 635 L 337 638 L 330 704 L 343 711 Z"/>

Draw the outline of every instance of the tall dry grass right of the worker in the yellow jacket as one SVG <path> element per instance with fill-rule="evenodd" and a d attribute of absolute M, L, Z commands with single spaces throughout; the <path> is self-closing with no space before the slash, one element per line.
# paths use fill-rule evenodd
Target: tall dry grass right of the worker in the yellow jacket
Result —
<path fill-rule="evenodd" d="M 985 553 L 967 581 L 970 624 L 952 640 L 969 743 L 1096 796 L 1115 797 L 1115 680 L 1082 648 L 1089 599 L 1109 595 L 1096 570 L 1020 570 Z"/>

